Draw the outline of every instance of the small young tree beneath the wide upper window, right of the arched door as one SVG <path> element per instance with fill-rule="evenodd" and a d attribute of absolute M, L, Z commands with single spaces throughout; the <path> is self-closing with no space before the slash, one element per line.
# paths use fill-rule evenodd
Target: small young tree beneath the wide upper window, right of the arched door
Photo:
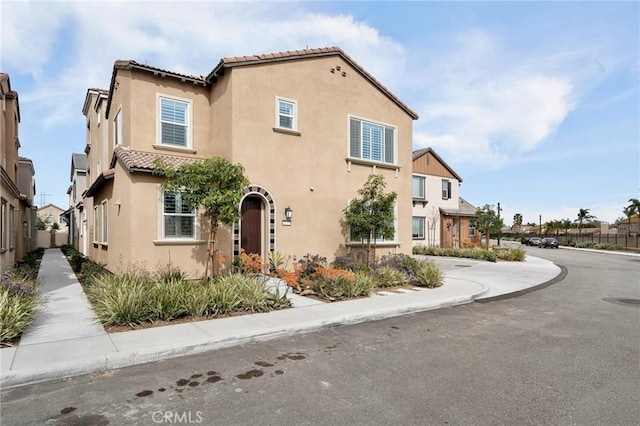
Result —
<path fill-rule="evenodd" d="M 398 195 L 385 193 L 386 183 L 382 175 L 369 175 L 367 182 L 358 190 L 360 198 L 351 200 L 344 209 L 345 222 L 351 235 L 361 236 L 366 241 L 367 264 L 376 259 L 378 237 L 393 238 L 394 204 Z M 373 250 L 373 259 L 370 253 Z"/>

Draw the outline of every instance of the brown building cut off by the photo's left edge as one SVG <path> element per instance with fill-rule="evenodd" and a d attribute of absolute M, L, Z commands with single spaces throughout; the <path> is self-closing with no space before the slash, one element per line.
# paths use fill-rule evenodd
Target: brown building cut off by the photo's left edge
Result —
<path fill-rule="evenodd" d="M 0 269 L 35 248 L 33 163 L 20 157 L 20 105 L 9 75 L 0 73 Z"/>

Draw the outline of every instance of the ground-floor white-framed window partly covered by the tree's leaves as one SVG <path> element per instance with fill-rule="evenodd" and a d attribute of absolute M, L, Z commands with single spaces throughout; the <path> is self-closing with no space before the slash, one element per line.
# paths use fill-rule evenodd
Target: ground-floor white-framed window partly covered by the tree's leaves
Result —
<path fill-rule="evenodd" d="M 196 211 L 185 205 L 179 192 L 162 193 L 162 238 L 195 239 Z"/>

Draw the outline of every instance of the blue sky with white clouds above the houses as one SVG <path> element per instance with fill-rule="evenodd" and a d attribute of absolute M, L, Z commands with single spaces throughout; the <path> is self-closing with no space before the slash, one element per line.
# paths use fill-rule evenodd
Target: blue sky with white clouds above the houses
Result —
<path fill-rule="evenodd" d="M 413 149 L 435 149 L 506 224 L 581 208 L 613 222 L 640 198 L 639 2 L 4 0 L 0 15 L 38 203 L 67 207 L 86 91 L 108 89 L 116 59 L 207 74 L 307 46 L 340 46 L 418 112 Z"/>

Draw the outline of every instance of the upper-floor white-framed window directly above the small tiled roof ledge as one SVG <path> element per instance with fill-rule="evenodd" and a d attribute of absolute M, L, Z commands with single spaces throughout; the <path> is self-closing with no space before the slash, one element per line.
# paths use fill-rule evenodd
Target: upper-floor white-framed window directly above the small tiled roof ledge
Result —
<path fill-rule="evenodd" d="M 191 148 L 191 101 L 158 95 L 159 145 Z"/>

